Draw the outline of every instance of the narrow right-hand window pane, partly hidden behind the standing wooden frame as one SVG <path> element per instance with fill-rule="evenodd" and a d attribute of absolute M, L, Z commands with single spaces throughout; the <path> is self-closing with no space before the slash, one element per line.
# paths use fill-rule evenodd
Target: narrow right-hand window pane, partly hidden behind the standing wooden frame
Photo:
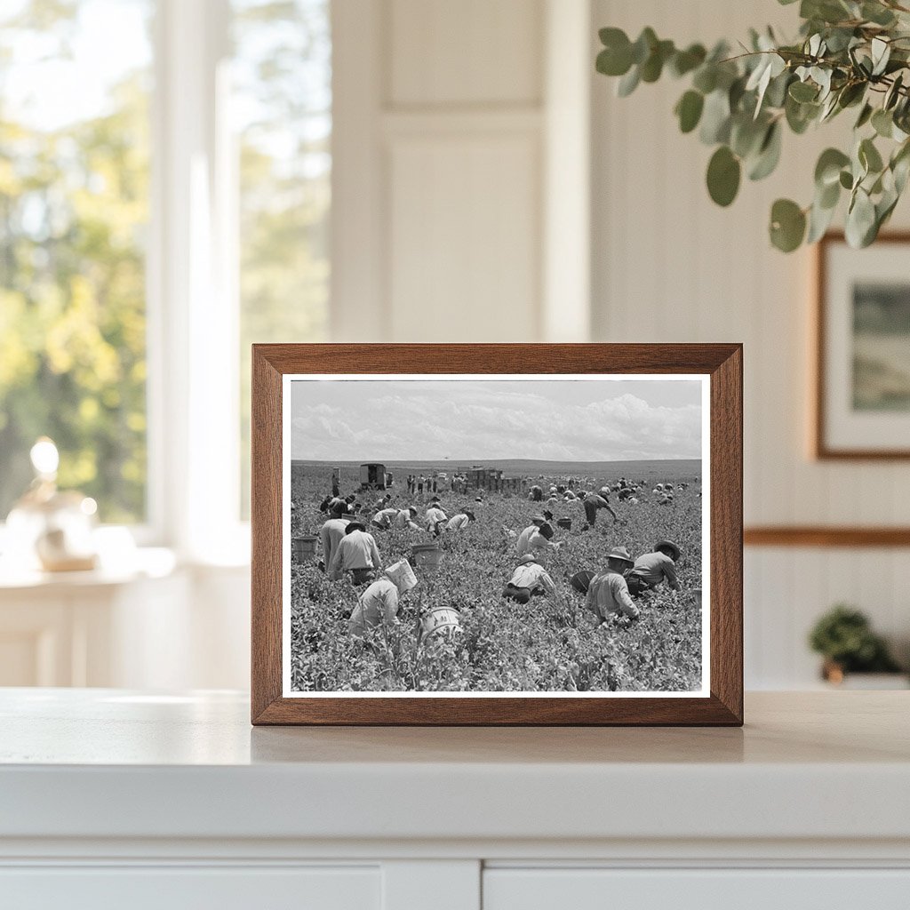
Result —
<path fill-rule="evenodd" d="M 235 0 L 240 501 L 249 489 L 249 346 L 321 341 L 329 308 L 329 0 Z"/>

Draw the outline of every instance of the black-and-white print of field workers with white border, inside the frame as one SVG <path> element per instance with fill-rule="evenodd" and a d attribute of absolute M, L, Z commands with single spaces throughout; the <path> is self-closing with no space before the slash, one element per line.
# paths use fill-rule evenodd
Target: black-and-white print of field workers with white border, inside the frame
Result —
<path fill-rule="evenodd" d="M 707 381 L 294 377 L 285 694 L 706 696 Z"/>

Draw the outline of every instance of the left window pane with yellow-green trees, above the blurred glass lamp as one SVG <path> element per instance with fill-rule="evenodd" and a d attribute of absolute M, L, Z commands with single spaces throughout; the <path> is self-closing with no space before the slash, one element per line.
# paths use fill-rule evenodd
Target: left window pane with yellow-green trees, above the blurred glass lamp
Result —
<path fill-rule="evenodd" d="M 41 435 L 61 485 L 103 521 L 146 516 L 152 12 L 6 0 L 0 13 L 0 519 Z"/>

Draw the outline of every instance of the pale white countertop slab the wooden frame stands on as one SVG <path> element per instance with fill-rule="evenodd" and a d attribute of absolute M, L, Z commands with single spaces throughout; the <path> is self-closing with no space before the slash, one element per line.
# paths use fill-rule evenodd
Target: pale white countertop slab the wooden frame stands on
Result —
<path fill-rule="evenodd" d="M 0 838 L 910 842 L 910 693 L 707 728 L 253 728 L 234 693 L 0 690 Z"/>

